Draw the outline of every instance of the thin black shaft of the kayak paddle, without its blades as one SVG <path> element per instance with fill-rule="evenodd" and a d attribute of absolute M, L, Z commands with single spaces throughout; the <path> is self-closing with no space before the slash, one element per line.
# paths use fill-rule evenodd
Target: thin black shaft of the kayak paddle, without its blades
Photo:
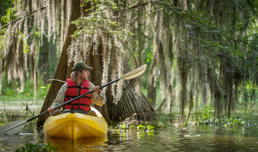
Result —
<path fill-rule="evenodd" d="M 120 80 L 120 79 L 116 79 L 116 80 L 111 81 L 111 82 L 109 82 L 109 83 L 107 83 L 107 84 L 105 84 L 105 85 L 102 85 L 102 86 L 99 87 L 99 89 L 102 89 L 103 87 L 106 87 L 106 86 L 108 86 L 108 85 L 111 85 L 112 83 L 115 83 L 115 82 L 117 82 L 117 81 L 119 81 L 119 80 Z M 84 97 L 84 96 L 86 96 L 86 95 L 88 95 L 88 94 L 90 94 L 90 93 L 93 93 L 93 92 L 94 92 L 94 90 L 91 90 L 90 92 L 87 92 L 87 93 L 85 93 L 85 94 L 83 94 L 83 95 L 80 95 L 80 96 L 78 96 L 78 97 L 76 97 L 76 98 L 74 98 L 74 99 L 72 99 L 72 100 L 69 100 L 69 101 L 67 101 L 67 102 L 65 102 L 65 103 L 62 103 L 61 105 L 58 105 L 58 106 L 54 107 L 54 109 L 60 108 L 60 107 L 66 105 L 66 104 L 68 104 L 68 103 L 70 103 L 70 102 L 73 102 L 73 101 L 75 101 L 75 100 L 77 100 L 77 99 L 79 99 L 79 98 L 82 98 L 82 97 Z M 34 117 L 28 119 L 27 122 L 32 121 L 33 119 L 36 119 L 36 118 L 38 118 L 38 117 L 40 117 L 40 116 L 42 116 L 42 115 L 45 115 L 46 113 L 48 113 L 48 111 L 45 111 L 45 112 L 43 112 L 43 113 L 40 113 L 39 115 L 36 115 L 36 116 L 34 116 Z"/>

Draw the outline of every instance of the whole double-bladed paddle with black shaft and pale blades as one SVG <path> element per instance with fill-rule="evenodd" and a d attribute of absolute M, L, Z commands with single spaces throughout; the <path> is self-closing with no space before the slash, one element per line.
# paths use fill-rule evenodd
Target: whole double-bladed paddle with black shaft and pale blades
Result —
<path fill-rule="evenodd" d="M 114 80 L 114 81 L 112 81 L 112 82 L 109 82 L 109 83 L 107 83 L 107 84 L 105 84 L 105 85 L 103 85 L 103 86 L 100 86 L 99 89 L 101 89 L 101 88 L 103 88 L 103 87 L 106 87 L 106 86 L 108 86 L 108 85 L 110 85 L 110 84 L 112 84 L 112 83 L 115 83 L 115 82 L 117 82 L 117 81 L 119 81 L 119 80 L 123 80 L 123 79 L 124 79 L 124 80 L 128 80 L 128 79 L 132 79 L 132 78 L 138 77 L 139 75 L 141 75 L 141 74 L 145 71 L 146 66 L 147 66 L 147 65 L 144 64 L 144 65 L 142 65 L 141 67 L 138 67 L 137 69 L 134 69 L 134 70 L 132 70 L 132 71 L 126 73 L 126 74 L 123 75 L 122 77 L 120 77 L 120 78 L 118 78 L 118 79 L 116 79 L 116 80 Z M 83 95 L 80 95 L 79 97 L 76 97 L 76 98 L 74 98 L 74 99 L 72 99 L 72 100 L 69 100 L 69 101 L 67 101 L 67 102 L 65 102 L 65 103 L 63 103 L 63 104 L 61 104 L 61 105 L 58 105 L 58 106 L 54 107 L 54 109 L 60 108 L 60 107 L 66 105 L 66 104 L 68 104 L 68 103 L 70 103 L 70 102 L 73 102 L 73 101 L 75 101 L 75 100 L 77 100 L 77 99 L 79 99 L 79 98 L 81 98 L 81 97 L 84 97 L 84 96 L 86 96 L 86 95 L 88 95 L 88 94 L 90 94 L 90 93 L 93 93 L 93 92 L 94 92 L 94 90 L 91 90 L 91 91 L 88 92 L 88 93 L 85 93 L 85 94 L 83 94 Z M 38 118 L 38 117 L 40 117 L 40 116 L 42 116 L 42 115 L 45 115 L 46 113 L 48 113 L 48 111 L 45 111 L 45 112 L 43 112 L 43 113 L 40 113 L 39 115 L 36 115 L 35 117 L 32 117 L 32 118 L 30 118 L 30 119 L 28 119 L 28 120 L 25 120 L 25 121 L 21 120 L 21 121 L 12 121 L 12 122 L 9 122 L 9 123 L 3 125 L 2 127 L 0 127 L 0 135 L 13 135 L 13 134 L 15 134 L 15 133 L 18 133 L 19 131 L 21 131 L 21 129 L 24 127 L 24 125 L 25 125 L 27 122 L 29 122 L 29 121 L 31 121 L 31 120 L 33 120 L 33 119 L 36 119 L 36 118 Z"/>

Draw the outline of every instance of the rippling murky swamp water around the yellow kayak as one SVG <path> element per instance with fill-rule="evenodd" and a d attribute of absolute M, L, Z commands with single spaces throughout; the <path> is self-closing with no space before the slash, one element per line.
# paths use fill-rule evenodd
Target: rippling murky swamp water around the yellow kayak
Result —
<path fill-rule="evenodd" d="M 16 108 L 13 108 L 16 109 Z M 255 109 L 257 111 L 257 109 Z M 246 116 L 251 124 L 258 124 L 258 115 Z M 232 115 L 233 117 L 233 115 Z M 235 118 L 235 117 L 234 117 Z M 178 123 L 178 113 L 161 119 L 166 123 Z M 212 125 L 173 127 L 154 132 L 108 132 L 106 136 L 75 141 L 50 138 L 43 130 L 27 124 L 19 133 L 0 136 L 0 151 L 15 151 L 24 143 L 52 143 L 58 151 L 258 151 L 258 126 L 223 127 Z"/>

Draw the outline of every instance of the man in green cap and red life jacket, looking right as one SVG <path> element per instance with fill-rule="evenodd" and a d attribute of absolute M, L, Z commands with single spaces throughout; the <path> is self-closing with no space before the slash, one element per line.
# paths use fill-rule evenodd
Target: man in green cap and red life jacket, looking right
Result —
<path fill-rule="evenodd" d="M 94 93 L 91 93 L 64 105 L 62 114 L 73 111 L 97 117 L 95 111 L 90 109 L 91 102 L 101 106 L 106 102 L 107 99 L 104 93 L 99 89 L 99 86 L 95 86 L 91 82 L 89 82 L 88 76 L 91 69 L 92 67 L 87 66 L 83 62 L 76 63 L 73 67 L 71 78 L 67 79 L 66 83 L 62 85 L 61 89 L 57 93 L 56 99 L 47 109 L 47 111 L 55 112 L 54 107 L 71 99 L 74 99 L 80 95 L 83 95 L 91 90 L 94 90 Z M 60 111 L 56 111 L 53 115 L 58 114 L 60 114 Z"/>

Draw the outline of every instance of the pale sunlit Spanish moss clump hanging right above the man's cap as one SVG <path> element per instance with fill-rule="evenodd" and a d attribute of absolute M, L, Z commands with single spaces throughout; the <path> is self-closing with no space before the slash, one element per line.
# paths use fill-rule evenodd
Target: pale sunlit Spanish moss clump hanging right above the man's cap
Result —
<path fill-rule="evenodd" d="M 106 4 L 108 3 L 102 3 L 98 9 L 89 13 L 89 16 L 82 16 L 79 19 L 80 25 L 78 27 L 79 30 L 77 30 L 79 33 L 75 33 L 73 36 L 72 44 L 69 46 L 67 52 L 69 64 L 80 61 L 85 62 L 90 55 L 90 48 L 93 48 L 92 55 L 99 55 L 97 54 L 97 50 L 100 45 L 103 45 L 102 61 L 104 67 L 101 80 L 102 85 L 106 84 L 108 81 L 108 69 L 111 69 L 111 81 L 124 75 L 124 43 L 120 39 L 126 37 L 125 33 L 120 33 L 119 28 L 115 29 L 115 27 L 118 27 L 116 22 L 111 22 L 114 24 L 114 27 L 105 26 L 107 24 L 109 25 L 106 20 L 114 18 L 114 10 Z M 94 3 L 92 5 L 94 5 Z M 102 12 L 102 9 L 105 11 Z M 105 19 L 97 17 L 99 15 Z M 90 18 L 97 19 L 89 20 Z M 96 27 L 93 28 L 90 25 L 95 25 Z M 114 32 L 114 34 L 110 34 L 109 31 Z M 116 104 L 122 96 L 123 86 L 123 81 L 118 81 L 111 85 L 112 96 Z M 105 90 L 106 89 L 103 91 L 105 92 Z"/>

